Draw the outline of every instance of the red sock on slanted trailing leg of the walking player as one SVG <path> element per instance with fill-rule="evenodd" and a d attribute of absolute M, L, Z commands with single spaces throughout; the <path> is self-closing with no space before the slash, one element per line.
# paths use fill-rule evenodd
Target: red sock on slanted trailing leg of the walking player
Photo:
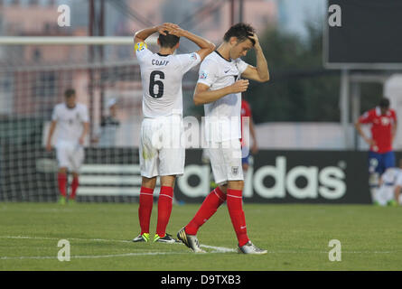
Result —
<path fill-rule="evenodd" d="M 195 214 L 194 218 L 184 228 L 189 235 L 196 235 L 198 229 L 218 210 L 220 205 L 226 200 L 226 194 L 220 191 L 217 187 L 205 198 L 200 209 Z"/>

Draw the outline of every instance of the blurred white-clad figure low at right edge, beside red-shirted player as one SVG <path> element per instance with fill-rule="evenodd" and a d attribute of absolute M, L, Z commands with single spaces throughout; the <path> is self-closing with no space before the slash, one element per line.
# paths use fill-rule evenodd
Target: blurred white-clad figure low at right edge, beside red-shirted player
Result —
<path fill-rule="evenodd" d="M 402 205 L 400 191 L 402 190 L 402 159 L 399 167 L 388 168 L 379 180 L 375 203 L 380 206 Z"/>

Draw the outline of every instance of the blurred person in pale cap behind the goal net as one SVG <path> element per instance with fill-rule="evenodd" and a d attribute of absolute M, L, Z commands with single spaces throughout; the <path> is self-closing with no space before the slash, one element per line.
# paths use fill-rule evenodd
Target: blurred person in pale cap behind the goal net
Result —
<path fill-rule="evenodd" d="M 117 129 L 120 121 L 117 118 L 117 100 L 108 100 L 108 116 L 102 117 L 97 137 L 92 140 L 100 147 L 113 147 L 116 145 Z"/>

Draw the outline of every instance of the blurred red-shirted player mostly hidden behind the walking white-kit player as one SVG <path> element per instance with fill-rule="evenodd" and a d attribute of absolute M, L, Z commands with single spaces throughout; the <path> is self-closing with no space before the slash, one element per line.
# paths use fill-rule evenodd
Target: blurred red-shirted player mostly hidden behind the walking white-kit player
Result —
<path fill-rule="evenodd" d="M 244 179 L 246 179 L 246 173 L 248 172 L 248 166 L 250 165 L 250 153 L 251 154 L 257 154 L 258 152 L 258 146 L 257 146 L 257 136 L 256 136 L 256 129 L 254 127 L 254 121 L 253 121 L 253 114 L 251 112 L 251 107 L 248 103 L 248 101 L 245 99 L 246 94 L 242 94 L 241 98 L 241 164 L 243 166 L 243 174 L 244 174 Z M 247 118 L 248 117 L 248 118 Z M 246 126 L 246 129 L 248 129 L 248 132 L 244 130 L 244 127 Z M 244 137 L 245 133 L 249 133 L 247 137 Z M 251 144 L 251 151 L 250 151 L 250 144 L 249 144 L 249 137 L 251 136 L 252 138 L 252 144 Z"/>

